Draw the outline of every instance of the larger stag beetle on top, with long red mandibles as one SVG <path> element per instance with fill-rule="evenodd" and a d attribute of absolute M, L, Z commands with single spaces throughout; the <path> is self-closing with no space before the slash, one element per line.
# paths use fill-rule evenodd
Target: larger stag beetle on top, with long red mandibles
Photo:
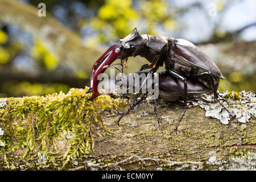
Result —
<path fill-rule="evenodd" d="M 201 84 L 207 86 L 209 90 L 212 90 L 214 99 L 226 109 L 222 102 L 220 102 L 217 93 L 220 78 L 224 79 L 224 77 L 220 69 L 218 69 L 209 56 L 187 40 L 139 34 L 138 28 L 134 28 L 131 34 L 120 39 L 119 45 L 111 46 L 96 63 L 94 63 L 90 77 L 90 89 L 87 92 L 93 92 L 90 97 L 91 100 L 100 95 L 97 90 L 98 75 L 103 73 L 106 68 L 110 67 L 116 59 L 121 59 L 120 65 L 122 65 L 123 69 L 123 63 L 126 64 L 130 56 L 142 56 L 150 62 L 150 64 L 142 65 L 137 73 L 155 73 L 159 67 L 165 65 L 168 75 L 171 76 L 171 78 L 165 81 L 173 82 L 175 78 L 183 82 L 183 116 L 187 109 L 188 90 L 192 89 L 188 87 L 189 79 L 198 80 Z M 144 71 L 144 69 L 150 70 Z M 168 90 L 170 87 L 166 89 Z M 172 93 L 170 92 L 170 94 Z M 137 100 L 138 97 L 139 96 L 135 97 L 135 100 Z M 135 102 L 136 101 L 134 101 L 134 104 Z M 230 111 L 228 109 L 226 110 L 230 118 L 232 118 Z M 183 117 L 181 117 L 181 119 L 182 118 Z M 177 127 L 175 128 L 175 131 L 176 130 Z"/>

